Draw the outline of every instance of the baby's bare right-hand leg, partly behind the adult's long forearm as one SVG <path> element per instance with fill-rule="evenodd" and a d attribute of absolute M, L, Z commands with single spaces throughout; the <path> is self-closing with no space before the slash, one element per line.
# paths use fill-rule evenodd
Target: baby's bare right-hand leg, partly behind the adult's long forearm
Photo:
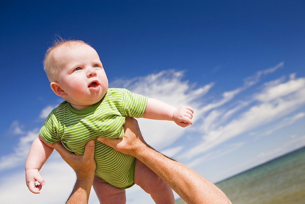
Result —
<path fill-rule="evenodd" d="M 159 203 L 175 203 L 173 190 L 151 169 L 138 159 L 135 162 L 135 184 Z"/>

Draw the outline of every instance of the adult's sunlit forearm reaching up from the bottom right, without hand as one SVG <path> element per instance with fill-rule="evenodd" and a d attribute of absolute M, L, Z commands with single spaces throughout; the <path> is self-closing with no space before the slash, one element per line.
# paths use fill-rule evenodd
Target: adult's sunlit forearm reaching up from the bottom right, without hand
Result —
<path fill-rule="evenodd" d="M 187 203 L 231 203 L 209 180 L 152 148 L 134 155 L 160 176 Z"/>

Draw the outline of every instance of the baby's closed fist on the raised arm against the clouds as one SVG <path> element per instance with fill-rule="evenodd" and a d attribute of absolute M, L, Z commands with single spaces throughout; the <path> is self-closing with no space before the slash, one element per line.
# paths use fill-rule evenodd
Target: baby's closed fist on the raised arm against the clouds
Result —
<path fill-rule="evenodd" d="M 173 121 L 181 127 L 192 125 L 192 117 L 194 110 L 189 106 L 178 107 L 173 114 Z"/>

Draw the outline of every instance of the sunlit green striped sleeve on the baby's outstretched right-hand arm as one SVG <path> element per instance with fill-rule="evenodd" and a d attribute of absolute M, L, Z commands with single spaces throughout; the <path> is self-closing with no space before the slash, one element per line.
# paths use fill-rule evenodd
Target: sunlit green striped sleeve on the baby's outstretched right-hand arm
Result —
<path fill-rule="evenodd" d="M 127 89 L 122 89 L 122 92 L 123 110 L 125 114 L 130 117 L 141 118 L 146 108 L 147 97 L 131 93 Z"/>

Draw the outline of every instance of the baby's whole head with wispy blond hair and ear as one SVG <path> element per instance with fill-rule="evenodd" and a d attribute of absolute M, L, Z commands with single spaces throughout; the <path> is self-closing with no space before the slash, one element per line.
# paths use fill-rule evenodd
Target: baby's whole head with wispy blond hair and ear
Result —
<path fill-rule="evenodd" d="M 99 55 L 83 41 L 55 42 L 43 64 L 53 92 L 76 109 L 99 102 L 107 92 L 108 79 Z"/>

